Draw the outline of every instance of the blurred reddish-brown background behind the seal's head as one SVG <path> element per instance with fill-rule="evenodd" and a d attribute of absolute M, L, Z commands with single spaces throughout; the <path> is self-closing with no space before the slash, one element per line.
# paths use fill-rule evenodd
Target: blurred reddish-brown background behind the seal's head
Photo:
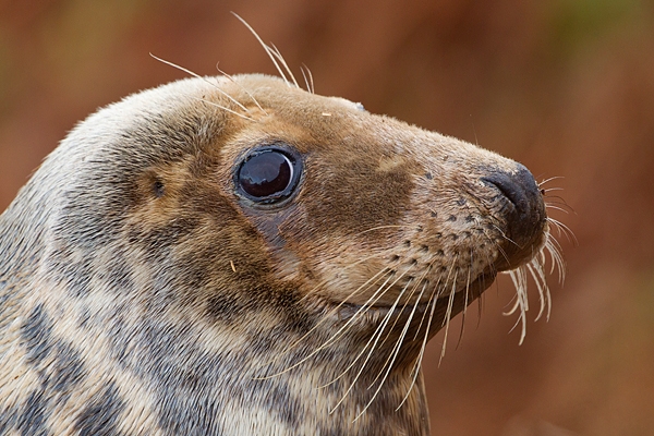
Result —
<path fill-rule="evenodd" d="M 96 108 L 185 74 L 276 74 L 520 160 L 570 213 L 526 340 L 500 280 L 424 362 L 434 435 L 654 434 L 654 4 L 639 0 L 0 0 L 0 210 Z M 554 199 L 554 198 L 553 198 Z M 1 235 L 0 235 L 1 238 Z M 535 289 L 532 289 L 535 291 Z M 536 293 L 532 304 L 537 306 Z M 533 312 L 533 311 L 532 311 Z"/>

